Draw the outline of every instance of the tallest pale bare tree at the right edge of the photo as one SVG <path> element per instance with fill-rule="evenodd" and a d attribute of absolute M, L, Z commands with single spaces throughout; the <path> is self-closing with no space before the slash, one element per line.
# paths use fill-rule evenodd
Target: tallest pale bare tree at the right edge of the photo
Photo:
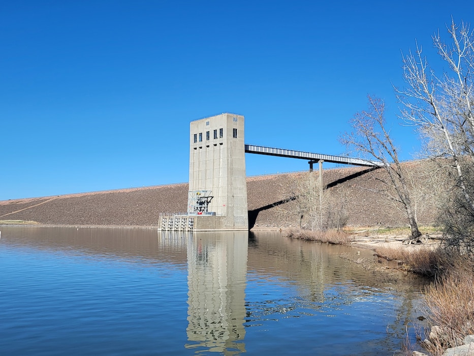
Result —
<path fill-rule="evenodd" d="M 405 87 L 395 88 L 403 120 L 414 125 L 426 154 L 448 161 L 456 176 L 446 208 L 448 242 L 471 249 L 474 233 L 474 36 L 469 25 L 447 26 L 450 42 L 432 36 L 440 68 L 436 74 L 416 46 L 403 58 Z"/>

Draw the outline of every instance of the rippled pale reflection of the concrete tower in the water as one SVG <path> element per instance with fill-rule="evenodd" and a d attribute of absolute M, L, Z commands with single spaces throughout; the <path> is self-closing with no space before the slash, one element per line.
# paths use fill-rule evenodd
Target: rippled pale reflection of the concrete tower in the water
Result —
<path fill-rule="evenodd" d="M 247 247 L 246 231 L 189 235 L 187 349 L 245 352 Z"/>

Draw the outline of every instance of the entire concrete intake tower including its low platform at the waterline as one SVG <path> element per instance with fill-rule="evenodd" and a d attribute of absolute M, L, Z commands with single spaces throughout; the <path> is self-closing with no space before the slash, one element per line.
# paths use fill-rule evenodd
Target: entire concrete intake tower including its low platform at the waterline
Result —
<path fill-rule="evenodd" d="M 223 113 L 189 125 L 187 212 L 160 216 L 163 230 L 248 230 L 244 117 Z"/>

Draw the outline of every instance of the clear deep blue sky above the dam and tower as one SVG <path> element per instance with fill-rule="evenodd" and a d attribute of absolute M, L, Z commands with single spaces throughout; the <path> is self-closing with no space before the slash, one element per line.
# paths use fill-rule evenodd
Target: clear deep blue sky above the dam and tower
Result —
<path fill-rule="evenodd" d="M 1 1 L 0 200 L 188 181 L 189 122 L 245 116 L 245 142 L 338 155 L 366 95 L 396 120 L 401 51 L 463 1 Z M 247 175 L 305 170 L 246 155 Z"/>

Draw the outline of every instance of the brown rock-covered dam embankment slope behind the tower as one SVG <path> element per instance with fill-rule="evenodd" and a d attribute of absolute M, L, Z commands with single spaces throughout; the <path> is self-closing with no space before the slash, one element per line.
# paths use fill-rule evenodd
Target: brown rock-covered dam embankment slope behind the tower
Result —
<path fill-rule="evenodd" d="M 345 209 L 352 226 L 406 226 L 407 219 L 380 193 L 385 172 L 361 174 L 366 168 L 328 169 L 324 183 L 335 195 L 349 197 Z M 318 174 L 318 172 L 313 172 Z M 254 228 L 297 226 L 296 201 L 286 201 L 285 185 L 300 173 L 247 177 L 249 226 Z M 360 174 L 360 175 L 358 175 Z M 351 178 L 352 179 L 349 179 Z M 0 220 L 37 221 L 52 225 L 156 226 L 160 213 L 185 212 L 188 184 L 124 189 L 0 201 Z M 289 212 L 289 213 L 288 213 Z M 435 222 L 436 211 L 419 214 L 422 225 Z"/>

